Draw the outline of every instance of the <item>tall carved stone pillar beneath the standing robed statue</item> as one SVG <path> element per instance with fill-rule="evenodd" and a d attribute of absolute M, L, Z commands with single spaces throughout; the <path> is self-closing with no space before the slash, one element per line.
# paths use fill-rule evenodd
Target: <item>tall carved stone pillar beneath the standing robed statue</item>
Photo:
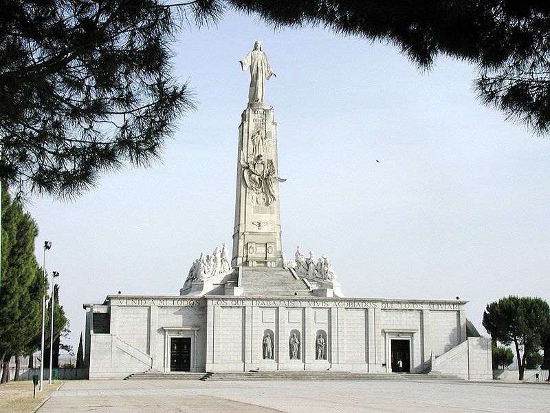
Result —
<path fill-rule="evenodd" d="M 274 110 L 249 105 L 239 125 L 232 266 L 283 266 Z"/>

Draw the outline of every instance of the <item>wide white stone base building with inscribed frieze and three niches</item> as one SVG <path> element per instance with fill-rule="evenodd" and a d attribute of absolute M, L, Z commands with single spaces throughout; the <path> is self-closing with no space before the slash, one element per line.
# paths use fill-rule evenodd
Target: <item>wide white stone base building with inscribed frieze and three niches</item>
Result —
<path fill-rule="evenodd" d="M 150 368 L 171 372 L 171 340 L 188 337 L 192 372 L 393 372 L 392 347 L 399 341 L 406 345 L 412 373 L 437 359 L 438 371 L 490 379 L 490 341 L 467 339 L 464 307 L 465 301 L 109 296 L 102 305 L 85 305 L 89 377 L 122 378 Z M 109 314 L 108 331 L 94 331 L 98 313 Z M 265 354 L 267 335 L 271 358 Z M 296 359 L 293 335 L 299 341 Z M 326 343 L 323 358 L 317 354 L 320 336 Z M 462 350 L 454 357 L 457 348 Z M 451 359 L 447 370 L 443 359 Z M 470 372 L 468 363 L 476 370 Z"/>

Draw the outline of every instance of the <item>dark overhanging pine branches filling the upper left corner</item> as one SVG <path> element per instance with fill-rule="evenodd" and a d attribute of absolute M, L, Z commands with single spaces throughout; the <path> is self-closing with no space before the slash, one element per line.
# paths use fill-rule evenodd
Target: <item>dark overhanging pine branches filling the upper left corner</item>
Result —
<path fill-rule="evenodd" d="M 1 14 L 0 179 L 19 193 L 70 198 L 148 165 L 194 107 L 171 77 L 177 26 L 159 1 L 8 0 Z"/>

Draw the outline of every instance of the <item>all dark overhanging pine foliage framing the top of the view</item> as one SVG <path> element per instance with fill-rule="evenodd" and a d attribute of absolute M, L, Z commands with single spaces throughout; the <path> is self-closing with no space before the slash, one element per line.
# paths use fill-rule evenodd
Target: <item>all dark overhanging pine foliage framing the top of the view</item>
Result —
<path fill-rule="evenodd" d="M 423 69 L 438 56 L 478 67 L 487 105 L 550 131 L 547 0 L 7 0 L 0 16 L 0 179 L 71 198 L 104 173 L 159 159 L 193 109 L 172 76 L 178 25 L 232 8 L 275 28 L 320 25 L 398 47 Z"/>

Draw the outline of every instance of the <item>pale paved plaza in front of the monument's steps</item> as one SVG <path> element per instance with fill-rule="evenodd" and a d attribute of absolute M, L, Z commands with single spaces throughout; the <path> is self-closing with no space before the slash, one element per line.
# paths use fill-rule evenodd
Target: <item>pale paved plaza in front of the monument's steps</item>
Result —
<path fill-rule="evenodd" d="M 38 413 L 542 412 L 550 385 L 452 381 L 67 381 Z"/>

